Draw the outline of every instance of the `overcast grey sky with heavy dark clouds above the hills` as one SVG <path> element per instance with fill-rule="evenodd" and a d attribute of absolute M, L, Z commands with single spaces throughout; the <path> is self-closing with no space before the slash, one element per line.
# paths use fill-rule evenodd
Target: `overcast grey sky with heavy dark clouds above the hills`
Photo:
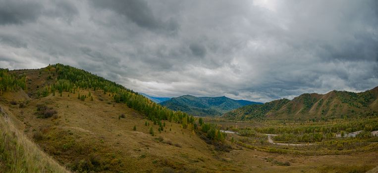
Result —
<path fill-rule="evenodd" d="M 267 102 L 378 86 L 377 0 L 0 0 L 0 68 Z"/>

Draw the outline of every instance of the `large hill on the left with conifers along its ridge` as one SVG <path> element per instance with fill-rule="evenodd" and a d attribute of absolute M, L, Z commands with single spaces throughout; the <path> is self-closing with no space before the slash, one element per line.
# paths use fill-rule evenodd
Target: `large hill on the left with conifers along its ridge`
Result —
<path fill-rule="evenodd" d="M 191 170 L 190 160 L 211 159 L 208 148 L 225 137 L 215 126 L 197 125 L 193 116 L 80 69 L 56 64 L 1 72 L 0 102 L 17 128 L 74 172 Z M 199 162 L 195 169 L 202 167 Z"/>

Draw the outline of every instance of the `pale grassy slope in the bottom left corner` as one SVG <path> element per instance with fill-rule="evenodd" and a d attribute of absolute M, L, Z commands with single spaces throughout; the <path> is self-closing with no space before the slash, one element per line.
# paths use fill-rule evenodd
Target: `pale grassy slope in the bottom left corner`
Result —
<path fill-rule="evenodd" d="M 0 170 L 3 173 L 69 173 L 19 132 L 0 105 Z"/>

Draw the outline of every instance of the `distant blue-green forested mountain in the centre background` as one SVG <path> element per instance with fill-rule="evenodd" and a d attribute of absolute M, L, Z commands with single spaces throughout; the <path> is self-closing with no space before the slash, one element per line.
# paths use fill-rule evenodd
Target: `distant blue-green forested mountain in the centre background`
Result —
<path fill-rule="evenodd" d="M 233 100 L 222 97 L 195 97 L 183 95 L 160 103 L 171 110 L 183 111 L 195 116 L 219 116 L 246 105 L 262 104 L 247 100 Z"/>

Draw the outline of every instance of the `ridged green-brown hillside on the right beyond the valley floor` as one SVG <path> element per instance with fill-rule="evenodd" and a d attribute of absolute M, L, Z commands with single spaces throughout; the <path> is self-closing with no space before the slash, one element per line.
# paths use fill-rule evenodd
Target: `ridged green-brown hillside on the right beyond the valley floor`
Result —
<path fill-rule="evenodd" d="M 378 87 L 355 93 L 330 91 L 326 94 L 305 93 L 293 100 L 274 100 L 263 105 L 249 105 L 227 112 L 230 120 L 251 119 L 335 119 L 378 115 Z"/>

